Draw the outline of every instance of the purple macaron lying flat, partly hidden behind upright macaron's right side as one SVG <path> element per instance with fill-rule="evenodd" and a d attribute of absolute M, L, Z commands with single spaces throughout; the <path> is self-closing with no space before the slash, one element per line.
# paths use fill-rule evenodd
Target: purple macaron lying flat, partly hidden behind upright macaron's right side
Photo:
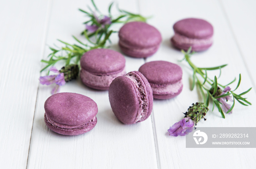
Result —
<path fill-rule="evenodd" d="M 139 68 L 148 80 L 153 91 L 154 99 L 170 99 L 182 91 L 182 69 L 174 63 L 153 61 Z"/>

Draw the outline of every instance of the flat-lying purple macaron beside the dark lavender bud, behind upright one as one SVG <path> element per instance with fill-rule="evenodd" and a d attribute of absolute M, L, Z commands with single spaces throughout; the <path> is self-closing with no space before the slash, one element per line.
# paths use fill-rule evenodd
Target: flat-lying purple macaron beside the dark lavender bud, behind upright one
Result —
<path fill-rule="evenodd" d="M 94 49 L 86 52 L 80 59 L 82 82 L 93 89 L 108 90 L 117 76 L 124 76 L 125 58 L 110 49 Z"/>

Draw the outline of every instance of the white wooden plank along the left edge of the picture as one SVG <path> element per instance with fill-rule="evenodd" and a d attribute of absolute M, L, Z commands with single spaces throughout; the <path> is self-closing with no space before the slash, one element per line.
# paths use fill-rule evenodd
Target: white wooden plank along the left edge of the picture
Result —
<path fill-rule="evenodd" d="M 0 2 L 0 168 L 27 165 L 49 7 Z"/>

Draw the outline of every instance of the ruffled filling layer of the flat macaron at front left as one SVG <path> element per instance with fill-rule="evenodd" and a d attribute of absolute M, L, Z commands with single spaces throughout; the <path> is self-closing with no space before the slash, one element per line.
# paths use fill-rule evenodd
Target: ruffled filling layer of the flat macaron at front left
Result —
<path fill-rule="evenodd" d="M 56 122 L 51 121 L 51 120 L 47 117 L 47 115 L 46 115 L 46 113 L 45 113 L 45 122 L 46 122 L 49 126 L 53 127 L 54 129 L 56 129 L 56 130 L 62 130 L 62 131 L 79 131 L 79 130 L 81 130 L 81 129 L 83 129 L 83 128 L 88 128 L 89 126 L 94 126 L 94 125 L 95 125 L 95 124 L 94 124 L 95 121 L 97 121 L 96 116 L 93 117 L 93 119 L 91 119 L 90 121 L 88 121 L 88 122 L 86 122 L 86 123 L 84 123 L 84 124 L 82 124 L 82 125 L 69 126 L 69 125 L 63 125 L 63 124 L 59 124 L 59 123 L 56 123 Z"/>

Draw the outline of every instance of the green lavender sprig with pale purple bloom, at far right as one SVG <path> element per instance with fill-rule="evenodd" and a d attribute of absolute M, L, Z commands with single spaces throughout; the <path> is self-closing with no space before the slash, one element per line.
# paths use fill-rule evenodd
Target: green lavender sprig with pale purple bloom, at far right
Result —
<path fill-rule="evenodd" d="M 195 64 L 193 64 L 190 60 L 191 55 L 195 53 L 195 52 L 191 52 L 191 47 L 188 49 L 187 52 L 185 52 L 184 50 L 181 50 L 181 52 L 185 55 L 184 59 L 182 60 L 186 60 L 189 66 L 191 66 L 191 68 L 193 69 L 192 90 L 195 87 L 195 85 L 199 87 L 204 103 L 207 105 L 207 107 L 209 106 L 210 99 L 212 100 L 213 102 L 212 111 L 214 110 L 214 106 L 216 106 L 218 108 L 218 111 L 221 113 L 222 117 L 225 118 L 224 112 L 227 114 L 232 113 L 232 110 L 235 105 L 235 99 L 244 106 L 251 105 L 251 103 L 248 102 L 246 98 L 243 98 L 243 95 L 248 93 L 252 88 L 246 90 L 241 94 L 234 93 L 234 91 L 237 90 L 237 88 L 240 85 L 241 74 L 239 74 L 239 80 L 238 80 L 236 89 L 231 91 L 229 85 L 235 82 L 236 78 L 227 85 L 221 85 L 217 81 L 217 76 L 215 76 L 214 79 L 210 79 L 207 76 L 207 71 L 218 70 L 218 69 L 221 70 L 221 68 L 227 66 L 227 64 L 217 66 L 217 67 L 206 67 L 206 68 L 196 67 Z M 204 81 L 202 82 L 197 75 L 201 76 L 204 79 Z M 233 104 L 229 105 L 227 101 L 233 101 Z"/>

